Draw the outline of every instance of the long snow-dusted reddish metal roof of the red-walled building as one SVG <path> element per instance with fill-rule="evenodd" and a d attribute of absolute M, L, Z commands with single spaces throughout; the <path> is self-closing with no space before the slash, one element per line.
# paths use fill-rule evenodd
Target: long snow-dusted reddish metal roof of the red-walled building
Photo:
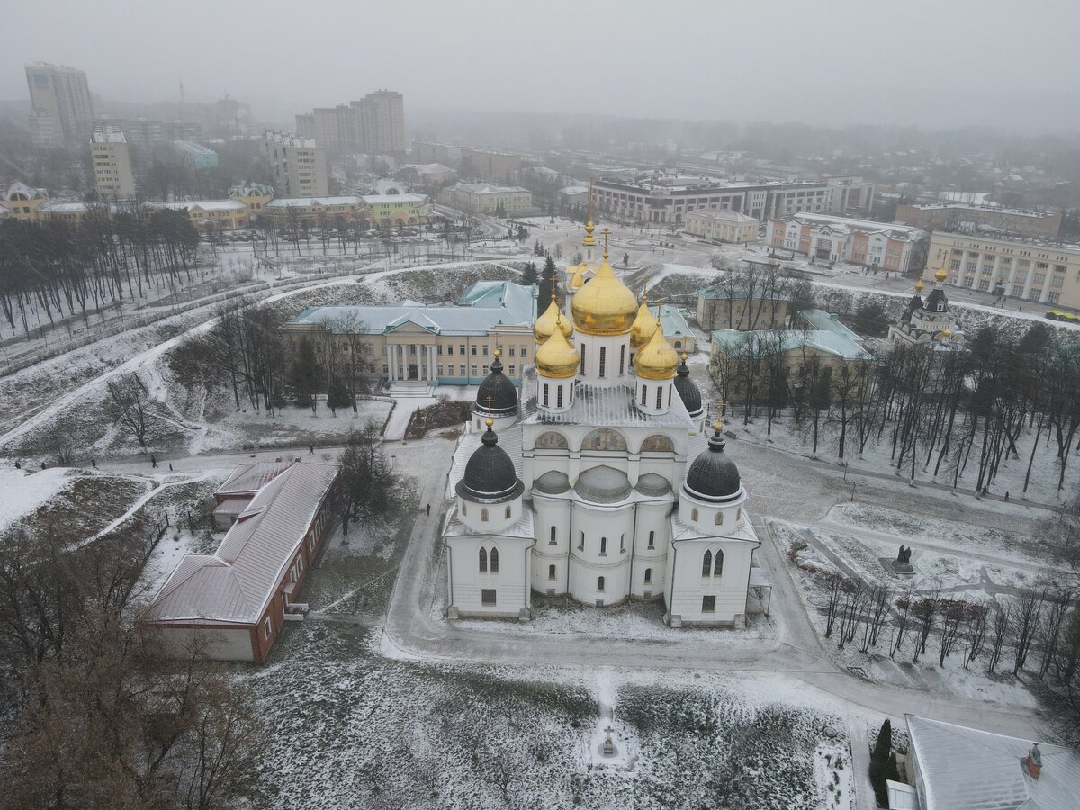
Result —
<path fill-rule="evenodd" d="M 180 559 L 150 607 L 154 619 L 258 622 L 337 473 L 294 461 L 262 485 L 216 552 Z"/>

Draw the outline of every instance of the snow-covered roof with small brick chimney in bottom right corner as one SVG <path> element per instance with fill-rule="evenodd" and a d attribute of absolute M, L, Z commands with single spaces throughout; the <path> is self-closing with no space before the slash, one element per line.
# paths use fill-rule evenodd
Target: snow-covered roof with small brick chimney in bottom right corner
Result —
<path fill-rule="evenodd" d="M 924 810 L 1074 810 L 1080 753 L 1039 743 L 1042 772 L 1023 760 L 1035 744 L 1017 737 L 905 715 L 926 789 Z"/>

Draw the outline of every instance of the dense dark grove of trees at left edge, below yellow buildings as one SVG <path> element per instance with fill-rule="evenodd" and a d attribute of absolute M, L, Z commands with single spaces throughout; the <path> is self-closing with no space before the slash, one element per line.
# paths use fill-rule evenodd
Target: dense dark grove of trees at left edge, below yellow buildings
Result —
<path fill-rule="evenodd" d="M 151 284 L 190 281 L 199 234 L 187 214 L 138 205 L 91 206 L 78 221 L 0 221 L 0 309 L 30 332 L 37 309 L 50 323 L 134 299 Z"/>

